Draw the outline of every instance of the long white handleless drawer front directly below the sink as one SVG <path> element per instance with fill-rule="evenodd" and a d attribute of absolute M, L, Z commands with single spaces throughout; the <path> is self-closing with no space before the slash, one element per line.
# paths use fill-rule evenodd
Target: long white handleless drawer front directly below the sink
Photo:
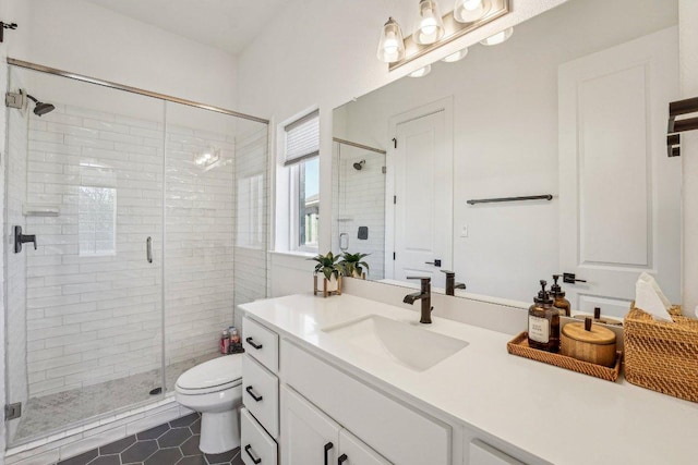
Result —
<path fill-rule="evenodd" d="M 449 465 L 450 427 L 382 394 L 288 341 L 285 382 L 388 461 Z"/>

